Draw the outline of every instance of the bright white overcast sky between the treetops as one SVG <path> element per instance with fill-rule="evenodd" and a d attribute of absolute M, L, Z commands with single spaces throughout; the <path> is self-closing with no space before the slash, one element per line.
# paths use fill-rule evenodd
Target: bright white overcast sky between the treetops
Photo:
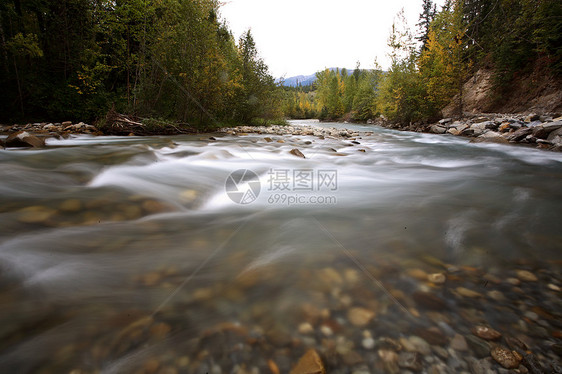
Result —
<path fill-rule="evenodd" d="M 386 44 L 402 8 L 415 29 L 422 0 L 225 0 L 220 14 L 237 40 L 251 29 L 271 75 L 288 78 L 357 61 L 369 69 L 375 58 L 388 68 Z"/>

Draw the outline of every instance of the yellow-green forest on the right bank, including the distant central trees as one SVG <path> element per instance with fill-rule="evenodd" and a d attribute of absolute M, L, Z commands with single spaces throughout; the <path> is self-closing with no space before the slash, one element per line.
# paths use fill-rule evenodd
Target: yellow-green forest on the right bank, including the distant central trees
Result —
<path fill-rule="evenodd" d="M 391 66 L 317 73 L 312 87 L 285 88 L 292 118 L 429 121 L 452 100 L 462 112 L 462 84 L 480 68 L 493 72 L 491 100 L 502 100 L 520 77 L 562 77 L 562 2 L 450 0 L 437 10 L 423 1 L 415 29 L 403 12 L 388 39 Z M 524 108 L 522 108 L 524 109 Z"/>

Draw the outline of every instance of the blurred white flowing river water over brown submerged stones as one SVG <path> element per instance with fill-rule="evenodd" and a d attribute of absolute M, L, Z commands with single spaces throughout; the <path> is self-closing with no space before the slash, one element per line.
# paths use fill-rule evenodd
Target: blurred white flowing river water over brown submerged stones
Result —
<path fill-rule="evenodd" d="M 479 324 L 559 364 L 562 154 L 294 124 L 359 136 L 0 151 L 1 372 L 470 371 Z"/>

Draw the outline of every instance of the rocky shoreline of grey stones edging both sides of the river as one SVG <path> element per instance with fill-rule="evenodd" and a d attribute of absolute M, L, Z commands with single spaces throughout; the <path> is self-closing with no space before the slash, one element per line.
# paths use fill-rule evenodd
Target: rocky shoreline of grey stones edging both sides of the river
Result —
<path fill-rule="evenodd" d="M 525 145 L 542 150 L 562 152 L 562 116 L 553 118 L 552 116 L 539 116 L 537 114 L 481 114 L 461 119 L 444 118 L 430 124 L 414 123 L 409 125 L 393 124 L 384 118 L 378 118 L 376 120 L 368 120 L 365 124 L 378 125 L 383 128 L 400 131 L 461 136 L 471 139 L 470 141 L 475 143 Z M 70 121 L 11 126 L 0 125 L 0 135 L 7 135 L 5 139 L 0 139 L 0 147 L 42 148 L 46 146 L 46 139 L 68 138 L 71 135 L 77 134 L 94 136 L 150 136 L 257 133 L 269 135 L 310 135 L 321 139 L 324 137 L 344 139 L 360 136 L 358 131 L 351 129 L 322 128 L 310 125 L 293 126 L 290 124 L 269 126 L 239 125 L 218 128 L 214 131 L 198 131 L 193 128 L 178 128 L 173 125 L 166 125 L 160 128 L 143 127 L 139 131 L 139 124 L 131 122 L 121 124 L 118 130 L 116 131 L 115 126 L 100 128 L 84 122 L 72 123 Z"/>

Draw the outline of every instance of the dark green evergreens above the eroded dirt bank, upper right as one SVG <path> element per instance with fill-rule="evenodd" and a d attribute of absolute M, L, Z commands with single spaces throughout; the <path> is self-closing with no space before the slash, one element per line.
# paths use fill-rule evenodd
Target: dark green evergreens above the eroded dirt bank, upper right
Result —
<path fill-rule="evenodd" d="M 537 63 L 542 74 L 562 74 L 562 3 L 558 0 L 465 0 L 464 54 L 494 69 L 497 89 Z"/>

